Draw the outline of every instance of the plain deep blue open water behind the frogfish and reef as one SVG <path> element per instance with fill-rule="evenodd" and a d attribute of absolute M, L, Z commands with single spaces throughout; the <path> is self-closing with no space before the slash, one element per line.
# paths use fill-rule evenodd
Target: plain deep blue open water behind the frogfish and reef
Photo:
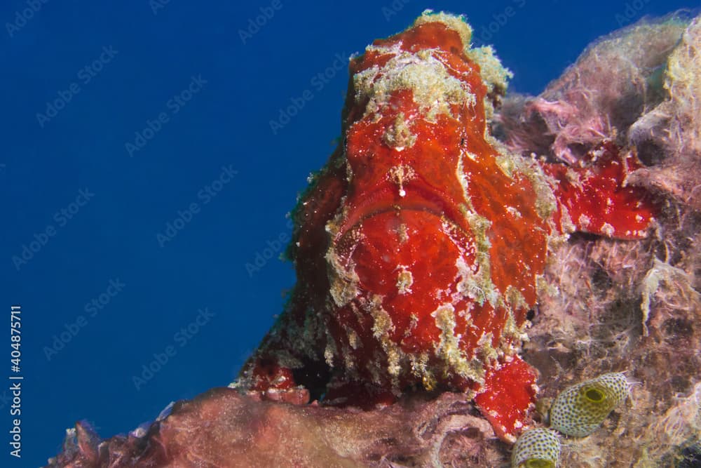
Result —
<path fill-rule="evenodd" d="M 699 6 L 2 2 L 0 464 L 36 467 L 77 420 L 125 433 L 233 379 L 294 284 L 285 215 L 339 137 L 346 59 L 372 39 L 427 7 L 464 13 L 511 89 L 538 93 L 598 36 Z M 8 375 L 24 377 L 21 459 Z"/>

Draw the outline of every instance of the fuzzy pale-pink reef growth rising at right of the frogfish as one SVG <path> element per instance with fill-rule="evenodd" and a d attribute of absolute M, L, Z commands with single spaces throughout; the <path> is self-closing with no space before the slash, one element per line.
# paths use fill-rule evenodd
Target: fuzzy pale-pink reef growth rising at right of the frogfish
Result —
<path fill-rule="evenodd" d="M 506 100 L 498 116 L 512 151 L 574 160 L 596 145 L 580 138 L 587 122 L 606 121 L 602 133 L 646 165 L 627 183 L 663 201 L 651 239 L 573 236 L 546 269 L 553 293 L 539 297 L 524 349 L 541 396 L 611 371 L 639 382 L 604 429 L 564 444 L 567 467 L 674 467 L 701 440 L 700 49 L 700 18 L 634 25 L 590 47 L 538 98 Z M 583 105 L 584 91 L 598 104 Z M 607 120 L 614 108 L 625 118 Z"/>

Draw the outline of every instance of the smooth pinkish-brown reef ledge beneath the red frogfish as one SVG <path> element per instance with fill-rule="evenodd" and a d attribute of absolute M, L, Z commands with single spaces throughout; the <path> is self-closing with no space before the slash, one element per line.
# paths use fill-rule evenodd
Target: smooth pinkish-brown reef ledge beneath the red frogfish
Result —
<path fill-rule="evenodd" d="M 471 408 L 464 395 L 450 393 L 349 411 L 257 401 L 216 388 L 175 403 L 147 432 L 100 443 L 78 424 L 52 466 L 496 467 L 503 455 L 486 445 L 494 432 Z"/>

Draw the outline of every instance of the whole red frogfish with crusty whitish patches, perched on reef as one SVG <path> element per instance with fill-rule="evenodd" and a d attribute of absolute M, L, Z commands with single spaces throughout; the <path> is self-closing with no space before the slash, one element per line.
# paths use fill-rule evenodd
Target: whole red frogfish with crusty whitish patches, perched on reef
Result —
<path fill-rule="evenodd" d="M 571 165 L 508 154 L 489 119 L 510 73 L 470 36 L 425 13 L 351 58 L 341 144 L 292 213 L 297 286 L 236 387 L 361 408 L 465 392 L 503 440 L 528 424 L 549 244 L 639 239 L 654 208 L 613 142 Z"/>

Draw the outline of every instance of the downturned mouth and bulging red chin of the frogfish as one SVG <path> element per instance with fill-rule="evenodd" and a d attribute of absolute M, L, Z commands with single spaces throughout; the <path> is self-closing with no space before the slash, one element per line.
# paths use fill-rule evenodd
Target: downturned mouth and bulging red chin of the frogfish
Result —
<path fill-rule="evenodd" d="M 454 290 L 458 258 L 470 258 L 473 240 L 458 203 L 420 181 L 405 183 L 403 195 L 383 183 L 358 201 L 348 197 L 343 224 L 332 241 L 339 266 L 355 272 L 360 290 L 393 297 L 423 295 L 435 309 L 436 289 Z M 397 287 L 407 283 L 407 287 Z M 414 294 L 411 293 L 413 290 Z"/>

